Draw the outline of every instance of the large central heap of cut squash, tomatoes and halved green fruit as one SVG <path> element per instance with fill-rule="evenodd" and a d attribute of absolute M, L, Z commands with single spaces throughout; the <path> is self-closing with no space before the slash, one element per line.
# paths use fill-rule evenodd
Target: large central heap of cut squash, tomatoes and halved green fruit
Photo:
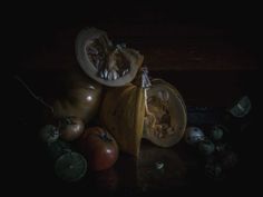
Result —
<path fill-rule="evenodd" d="M 182 139 L 183 98 L 171 83 L 149 78 L 137 50 L 87 28 L 77 36 L 76 56 L 82 72 L 67 78 L 51 105 L 52 120 L 40 129 L 59 178 L 76 181 L 86 170 L 110 168 L 120 152 L 138 157 L 142 138 L 160 147 Z"/>

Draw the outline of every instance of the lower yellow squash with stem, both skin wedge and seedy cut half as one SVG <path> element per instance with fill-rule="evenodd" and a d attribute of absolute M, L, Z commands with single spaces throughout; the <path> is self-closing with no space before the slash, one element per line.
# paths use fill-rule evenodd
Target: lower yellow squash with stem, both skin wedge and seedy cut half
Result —
<path fill-rule="evenodd" d="M 177 144 L 187 120 L 178 90 L 162 79 L 149 81 L 142 70 L 136 85 L 108 89 L 100 109 L 100 122 L 120 150 L 136 157 L 142 138 L 166 148 Z"/>

